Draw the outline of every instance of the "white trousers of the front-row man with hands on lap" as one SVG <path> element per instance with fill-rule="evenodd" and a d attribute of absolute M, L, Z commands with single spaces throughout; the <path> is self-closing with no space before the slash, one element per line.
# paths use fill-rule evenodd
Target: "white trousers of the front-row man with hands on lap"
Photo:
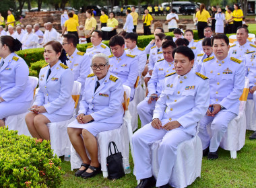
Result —
<path fill-rule="evenodd" d="M 143 126 L 133 134 L 133 150 L 136 179 L 152 177 L 152 156 L 150 146 L 162 139 L 158 149 L 159 173 L 156 187 L 166 185 L 170 179 L 174 162 L 177 158 L 177 147 L 181 142 L 192 138 L 182 128 L 174 130 L 157 130 L 150 124 Z"/>

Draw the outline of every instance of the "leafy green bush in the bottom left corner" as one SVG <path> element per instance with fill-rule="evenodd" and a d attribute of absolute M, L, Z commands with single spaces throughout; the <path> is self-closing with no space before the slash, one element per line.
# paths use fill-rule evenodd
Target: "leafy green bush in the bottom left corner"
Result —
<path fill-rule="evenodd" d="M 0 128 L 0 187 L 59 187 L 61 159 L 50 142 Z"/>

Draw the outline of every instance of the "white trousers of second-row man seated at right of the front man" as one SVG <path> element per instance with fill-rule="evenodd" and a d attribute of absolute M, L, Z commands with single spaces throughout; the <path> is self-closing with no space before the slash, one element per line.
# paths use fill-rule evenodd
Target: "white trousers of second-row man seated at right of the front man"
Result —
<path fill-rule="evenodd" d="M 210 152 L 216 152 L 220 146 L 222 136 L 225 134 L 228 128 L 229 122 L 236 118 L 236 114 L 225 109 L 222 109 L 217 113 L 215 117 L 205 115 L 199 122 L 199 134 L 201 142 L 203 144 L 203 150 L 209 146 Z M 206 126 L 211 124 L 212 138 L 207 132 Z"/>

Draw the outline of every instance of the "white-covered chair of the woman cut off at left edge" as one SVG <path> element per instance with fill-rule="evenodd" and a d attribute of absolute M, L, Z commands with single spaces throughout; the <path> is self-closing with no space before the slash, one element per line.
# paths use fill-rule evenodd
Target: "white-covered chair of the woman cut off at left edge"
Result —
<path fill-rule="evenodd" d="M 34 89 L 34 95 L 35 95 L 36 87 L 38 85 L 38 78 L 28 77 L 28 81 L 32 85 L 32 88 Z M 24 113 L 20 113 L 18 115 L 9 115 L 5 120 L 5 125 L 8 126 L 9 130 L 18 130 L 19 135 L 24 134 L 26 136 L 31 136 L 25 121 L 25 117 L 27 113 L 28 111 Z"/>

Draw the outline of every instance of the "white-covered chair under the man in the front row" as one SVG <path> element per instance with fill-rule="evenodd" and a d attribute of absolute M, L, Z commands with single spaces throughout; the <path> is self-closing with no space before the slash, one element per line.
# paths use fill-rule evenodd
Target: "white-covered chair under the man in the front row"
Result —
<path fill-rule="evenodd" d="M 199 125 L 197 125 L 198 133 Z M 158 164 L 158 148 L 160 142 L 157 140 L 151 146 L 152 150 L 152 173 L 157 179 Z M 185 142 L 179 144 L 177 148 L 177 158 L 172 169 L 172 175 L 168 181 L 172 187 L 187 187 L 191 185 L 197 177 L 201 177 L 201 161 L 203 157 L 201 139 L 197 134 Z M 170 160 L 174 160 L 170 158 Z"/>

